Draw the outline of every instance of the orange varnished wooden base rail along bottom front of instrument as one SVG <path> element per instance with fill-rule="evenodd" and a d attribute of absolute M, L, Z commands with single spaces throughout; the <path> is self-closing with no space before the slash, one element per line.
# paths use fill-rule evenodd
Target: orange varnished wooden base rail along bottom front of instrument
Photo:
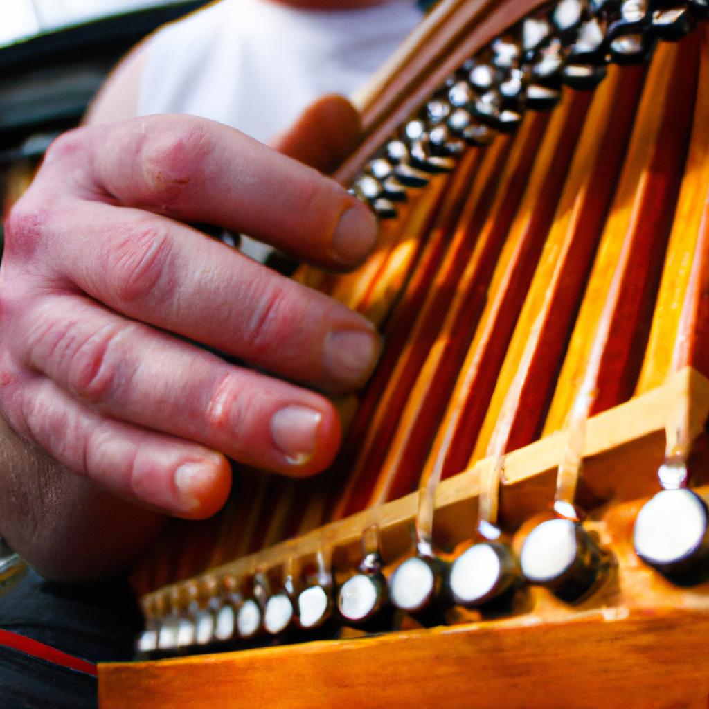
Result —
<path fill-rule="evenodd" d="M 640 562 L 641 503 L 588 523 L 615 562 L 576 605 L 533 588 L 506 616 L 460 612 L 451 627 L 101 665 L 100 708 L 705 708 L 709 581 L 679 586 Z"/>

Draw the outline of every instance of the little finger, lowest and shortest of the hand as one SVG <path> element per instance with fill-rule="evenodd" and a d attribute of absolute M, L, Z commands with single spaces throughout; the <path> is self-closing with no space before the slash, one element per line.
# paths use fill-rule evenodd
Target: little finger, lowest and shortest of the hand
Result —
<path fill-rule="evenodd" d="M 23 376 L 3 398 L 20 435 L 111 493 L 193 519 L 226 501 L 231 471 L 223 455 L 105 418 L 43 376 Z"/>

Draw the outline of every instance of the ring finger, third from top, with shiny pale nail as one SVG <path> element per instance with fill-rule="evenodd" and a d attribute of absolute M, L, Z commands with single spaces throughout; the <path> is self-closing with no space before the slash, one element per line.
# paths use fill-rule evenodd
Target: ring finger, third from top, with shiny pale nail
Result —
<path fill-rule="evenodd" d="M 28 317 L 26 365 L 104 418 L 293 476 L 335 456 L 339 419 L 317 393 L 233 367 L 77 296 L 45 298 Z"/>

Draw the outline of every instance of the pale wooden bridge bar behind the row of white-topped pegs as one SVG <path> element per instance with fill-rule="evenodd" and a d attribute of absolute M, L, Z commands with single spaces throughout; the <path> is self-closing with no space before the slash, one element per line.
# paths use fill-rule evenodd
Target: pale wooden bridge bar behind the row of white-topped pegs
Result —
<path fill-rule="evenodd" d="M 667 412 L 679 401 L 687 403 L 692 435 L 698 435 L 709 416 L 709 380 L 688 367 L 671 376 L 664 386 L 588 421 L 583 491 L 588 500 L 587 508 L 604 501 L 649 496 L 657 490 L 657 468 L 664 454 Z M 511 529 L 549 509 L 556 468 L 565 444 L 564 435 L 555 433 L 508 455 L 501 518 Z M 488 464 L 489 460 L 483 460 L 443 481 L 437 489 L 434 531 L 440 546 L 452 548 L 474 536 L 480 475 Z M 632 475 L 627 474 L 630 469 Z M 382 552 L 389 562 L 411 552 L 411 529 L 417 505 L 418 495 L 412 493 L 377 510 Z M 275 569 L 289 559 L 313 559 L 323 546 L 333 549 L 338 568 L 352 569 L 358 563 L 362 530 L 369 523 L 371 515 L 365 510 L 208 573 L 242 576 L 252 573 L 256 566 Z M 163 592 L 169 594 L 169 587 Z"/>

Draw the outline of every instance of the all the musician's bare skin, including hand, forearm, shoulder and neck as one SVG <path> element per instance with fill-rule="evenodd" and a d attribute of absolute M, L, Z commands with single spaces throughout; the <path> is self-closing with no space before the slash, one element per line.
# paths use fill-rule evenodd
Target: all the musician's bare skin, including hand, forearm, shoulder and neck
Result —
<path fill-rule="evenodd" d="M 113 72 L 6 222 L 0 532 L 55 579 L 124 568 L 166 515 L 215 513 L 229 459 L 327 467 L 340 422 L 320 392 L 361 386 L 379 352 L 367 320 L 189 225 L 361 262 L 374 218 L 304 164 L 352 148 L 350 104 L 323 99 L 272 150 L 201 118 L 130 118 L 142 62 L 138 48 Z"/>

